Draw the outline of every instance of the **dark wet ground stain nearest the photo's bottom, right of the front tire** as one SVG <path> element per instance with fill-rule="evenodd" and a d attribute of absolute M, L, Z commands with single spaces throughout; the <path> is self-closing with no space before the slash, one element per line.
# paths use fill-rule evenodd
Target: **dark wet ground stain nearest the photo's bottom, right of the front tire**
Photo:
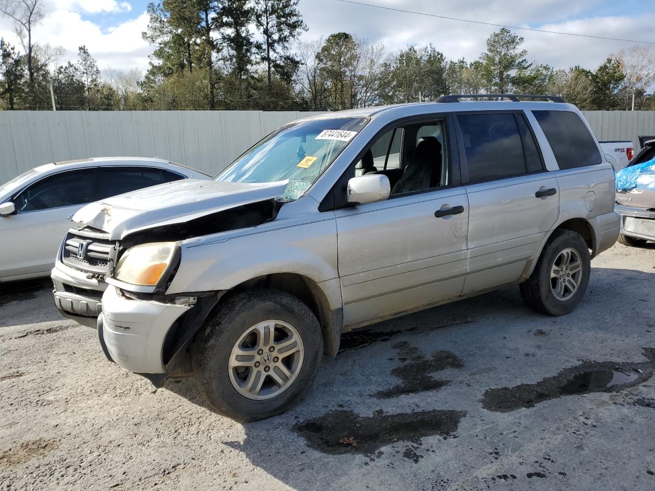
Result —
<path fill-rule="evenodd" d="M 325 454 L 370 455 L 382 446 L 398 441 L 420 443 L 422 437 L 453 437 L 466 411 L 429 410 L 360 416 L 350 410 L 331 410 L 293 426 L 293 431 L 307 440 L 307 445 Z M 410 452 L 411 453 L 411 452 Z M 407 458 L 420 458 L 413 454 Z"/>

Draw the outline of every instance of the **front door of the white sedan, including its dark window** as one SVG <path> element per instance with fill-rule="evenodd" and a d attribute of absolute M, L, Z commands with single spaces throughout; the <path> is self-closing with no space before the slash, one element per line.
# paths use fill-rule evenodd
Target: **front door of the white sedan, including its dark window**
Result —
<path fill-rule="evenodd" d="M 50 271 L 71 217 L 92 201 L 95 172 L 92 168 L 49 175 L 14 196 L 16 214 L 0 217 L 0 278 Z"/>

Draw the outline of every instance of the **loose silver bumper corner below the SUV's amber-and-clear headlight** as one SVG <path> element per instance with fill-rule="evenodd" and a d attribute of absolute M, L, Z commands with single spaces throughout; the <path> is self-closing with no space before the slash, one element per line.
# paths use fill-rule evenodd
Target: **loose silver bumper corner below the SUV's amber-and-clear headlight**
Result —
<path fill-rule="evenodd" d="M 164 340 L 191 305 L 124 297 L 109 286 L 102 297 L 102 336 L 111 359 L 140 374 L 165 373 Z"/>

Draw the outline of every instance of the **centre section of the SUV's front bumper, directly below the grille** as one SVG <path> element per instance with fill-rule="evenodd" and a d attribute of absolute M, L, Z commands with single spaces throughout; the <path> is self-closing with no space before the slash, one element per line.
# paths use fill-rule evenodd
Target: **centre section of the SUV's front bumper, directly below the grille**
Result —
<path fill-rule="evenodd" d="M 107 283 L 87 278 L 85 272 L 66 266 L 61 261 L 54 264 L 50 277 L 54 285 L 54 305 L 62 316 L 88 327 L 96 327 Z"/>

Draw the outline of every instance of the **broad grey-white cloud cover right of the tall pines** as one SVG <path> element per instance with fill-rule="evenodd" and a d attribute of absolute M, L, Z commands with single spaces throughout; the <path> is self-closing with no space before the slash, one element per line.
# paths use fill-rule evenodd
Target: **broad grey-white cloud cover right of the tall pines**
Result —
<path fill-rule="evenodd" d="M 655 14 L 595 17 L 571 20 L 592 11 L 597 0 L 544 0 L 540 2 L 502 2 L 494 0 L 362 0 L 385 7 L 414 10 L 440 16 L 464 18 L 516 27 L 535 27 L 553 31 L 584 33 L 655 42 Z M 407 45 L 432 43 L 447 58 L 475 60 L 486 50 L 487 37 L 500 27 L 446 20 L 417 14 L 373 9 L 361 5 L 324 0 L 303 0 L 299 7 L 309 31 L 304 39 L 316 39 L 345 31 L 368 39 L 383 41 L 393 52 Z M 595 69 L 612 52 L 634 43 L 515 31 L 525 38 L 527 58 L 556 68 L 581 65 Z M 648 45 L 641 45 L 648 46 Z M 655 50 L 655 46 L 651 46 Z"/>

